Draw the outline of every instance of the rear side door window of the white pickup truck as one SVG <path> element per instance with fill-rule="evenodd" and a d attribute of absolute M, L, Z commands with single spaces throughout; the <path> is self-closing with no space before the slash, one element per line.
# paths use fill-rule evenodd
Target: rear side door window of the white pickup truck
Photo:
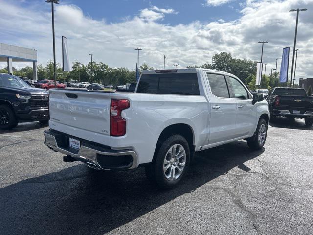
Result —
<path fill-rule="evenodd" d="M 212 94 L 221 98 L 229 98 L 229 91 L 224 75 L 207 73 Z"/>

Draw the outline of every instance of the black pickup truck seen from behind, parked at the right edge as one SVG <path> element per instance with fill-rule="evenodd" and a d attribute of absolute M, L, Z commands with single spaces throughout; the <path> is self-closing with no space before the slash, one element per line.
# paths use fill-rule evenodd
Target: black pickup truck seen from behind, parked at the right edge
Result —
<path fill-rule="evenodd" d="M 304 118 L 307 126 L 313 125 L 313 97 L 303 88 L 275 87 L 266 97 L 271 120 L 277 117 Z"/>

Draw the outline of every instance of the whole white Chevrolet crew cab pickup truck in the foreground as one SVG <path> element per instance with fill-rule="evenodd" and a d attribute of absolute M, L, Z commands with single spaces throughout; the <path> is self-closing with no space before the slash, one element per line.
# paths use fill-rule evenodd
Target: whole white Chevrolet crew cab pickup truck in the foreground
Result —
<path fill-rule="evenodd" d="M 175 187 L 197 151 L 245 139 L 263 147 L 268 103 L 234 75 L 207 69 L 143 71 L 134 93 L 50 90 L 45 145 L 98 170 L 144 166 Z"/>

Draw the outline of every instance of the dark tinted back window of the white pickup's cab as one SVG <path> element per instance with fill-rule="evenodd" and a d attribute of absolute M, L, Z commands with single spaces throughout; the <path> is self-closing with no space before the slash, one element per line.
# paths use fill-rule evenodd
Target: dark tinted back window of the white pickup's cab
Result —
<path fill-rule="evenodd" d="M 196 73 L 143 74 L 137 93 L 200 95 Z"/>

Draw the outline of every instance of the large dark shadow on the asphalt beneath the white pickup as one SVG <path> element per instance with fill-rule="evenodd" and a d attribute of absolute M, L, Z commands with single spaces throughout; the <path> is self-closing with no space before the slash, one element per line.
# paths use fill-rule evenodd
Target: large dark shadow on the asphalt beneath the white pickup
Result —
<path fill-rule="evenodd" d="M 156 188 L 145 178 L 143 168 L 103 172 L 85 164 L 23 180 L 0 189 L 0 231 L 19 235 L 104 234 L 193 193 L 235 167 L 250 171 L 244 163 L 263 152 L 251 151 L 245 141 L 202 151 L 179 187 L 171 190 Z"/>

